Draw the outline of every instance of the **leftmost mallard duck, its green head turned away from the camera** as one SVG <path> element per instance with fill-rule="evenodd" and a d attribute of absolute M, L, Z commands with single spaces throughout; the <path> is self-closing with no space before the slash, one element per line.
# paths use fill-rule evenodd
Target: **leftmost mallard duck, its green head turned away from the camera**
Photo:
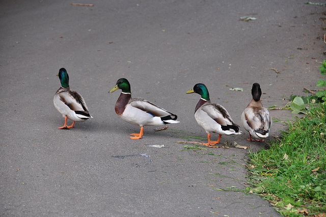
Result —
<path fill-rule="evenodd" d="M 83 122 L 89 118 L 93 118 L 88 112 L 87 105 L 82 95 L 70 90 L 67 70 L 61 68 L 57 76 L 59 76 L 61 87 L 57 90 L 53 98 L 53 103 L 65 118 L 65 124 L 62 127 L 58 127 L 58 129 L 70 129 L 75 122 Z M 67 126 L 68 118 L 73 121 L 70 126 Z"/>

